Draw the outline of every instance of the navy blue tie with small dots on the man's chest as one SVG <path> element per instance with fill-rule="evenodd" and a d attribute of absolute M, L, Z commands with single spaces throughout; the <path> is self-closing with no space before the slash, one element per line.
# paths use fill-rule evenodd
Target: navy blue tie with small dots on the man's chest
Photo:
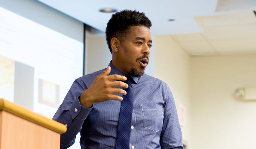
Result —
<path fill-rule="evenodd" d="M 127 94 L 123 96 L 121 102 L 118 130 L 116 138 L 116 149 L 129 149 L 131 136 L 132 122 L 132 107 L 133 107 L 133 89 L 131 87 L 131 77 L 126 76 L 126 83 L 129 87 L 126 89 Z"/>

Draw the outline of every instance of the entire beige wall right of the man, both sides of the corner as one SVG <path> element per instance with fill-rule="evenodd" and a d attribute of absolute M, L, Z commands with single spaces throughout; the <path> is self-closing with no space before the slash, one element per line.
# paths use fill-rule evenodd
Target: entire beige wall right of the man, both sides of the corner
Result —
<path fill-rule="evenodd" d="M 173 39 L 155 36 L 154 76 L 186 108 L 188 149 L 254 148 L 256 101 L 239 101 L 239 87 L 256 87 L 256 55 L 190 57 Z"/>

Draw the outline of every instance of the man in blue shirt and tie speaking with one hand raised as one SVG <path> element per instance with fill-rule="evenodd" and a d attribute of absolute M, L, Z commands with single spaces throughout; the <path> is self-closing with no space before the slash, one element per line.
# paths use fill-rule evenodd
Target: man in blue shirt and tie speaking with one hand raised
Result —
<path fill-rule="evenodd" d="M 67 127 L 61 148 L 71 146 L 80 132 L 82 149 L 114 149 L 121 132 L 121 104 L 128 100 L 129 88 L 133 103 L 128 148 L 183 149 L 168 85 L 144 74 L 152 46 L 150 27 L 144 13 L 123 10 L 112 15 L 106 28 L 112 61 L 106 69 L 76 79 L 53 117 Z M 127 79 L 131 84 L 125 83 Z"/>

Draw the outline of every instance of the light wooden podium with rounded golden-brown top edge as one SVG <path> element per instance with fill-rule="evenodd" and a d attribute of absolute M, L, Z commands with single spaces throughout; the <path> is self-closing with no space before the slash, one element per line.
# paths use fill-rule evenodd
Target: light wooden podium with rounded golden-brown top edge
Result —
<path fill-rule="evenodd" d="M 59 149 L 65 125 L 0 98 L 0 149 Z"/>

